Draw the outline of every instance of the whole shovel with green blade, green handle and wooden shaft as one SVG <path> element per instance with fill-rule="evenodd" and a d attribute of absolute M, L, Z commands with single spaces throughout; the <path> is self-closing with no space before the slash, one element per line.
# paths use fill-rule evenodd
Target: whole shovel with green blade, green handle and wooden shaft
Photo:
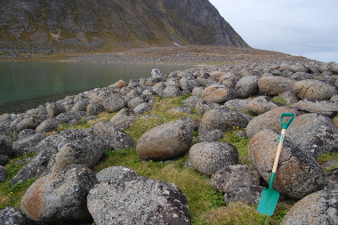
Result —
<path fill-rule="evenodd" d="M 284 117 L 290 117 L 286 123 L 284 123 Z M 284 136 L 286 135 L 286 128 L 291 124 L 293 120 L 293 113 L 283 113 L 280 117 L 280 123 L 282 124 L 282 133 L 280 133 L 275 162 L 273 164 L 272 173 L 270 175 L 269 189 L 262 189 L 260 202 L 257 206 L 257 211 L 262 214 L 266 214 L 269 216 L 272 215 L 275 212 L 275 208 L 278 203 L 279 192 L 272 189 L 272 186 L 276 176 L 280 152 L 282 151 L 283 147 Z"/>

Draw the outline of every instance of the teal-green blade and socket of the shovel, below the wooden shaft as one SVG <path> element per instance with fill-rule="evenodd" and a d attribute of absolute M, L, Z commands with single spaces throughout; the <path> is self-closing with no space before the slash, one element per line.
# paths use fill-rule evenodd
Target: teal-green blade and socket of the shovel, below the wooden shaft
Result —
<path fill-rule="evenodd" d="M 257 211 L 271 216 L 275 212 L 278 204 L 279 192 L 272 189 L 275 173 L 271 174 L 269 189 L 262 189 L 260 202 L 257 206 Z"/>

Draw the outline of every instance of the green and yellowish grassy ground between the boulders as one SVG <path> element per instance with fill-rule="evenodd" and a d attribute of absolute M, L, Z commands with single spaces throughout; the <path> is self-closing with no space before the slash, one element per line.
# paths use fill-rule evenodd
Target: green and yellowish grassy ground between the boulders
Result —
<path fill-rule="evenodd" d="M 145 133 L 157 125 L 162 125 L 187 116 L 167 112 L 170 108 L 182 106 L 182 101 L 187 97 L 189 96 L 168 99 L 158 98 L 154 108 L 145 115 L 157 114 L 160 117 L 152 117 L 148 120 L 138 118 L 130 129 L 125 130 L 125 133 L 130 134 L 135 141 L 133 148 L 120 149 L 117 151 L 106 150 L 100 163 L 93 167 L 93 171 L 98 173 L 109 166 L 124 165 L 133 168 L 141 176 L 174 183 L 188 198 L 192 224 L 279 224 L 292 204 L 289 202 L 279 202 L 274 215 L 271 217 L 258 213 L 256 211 L 256 205 L 246 205 L 244 203 L 224 205 L 222 194 L 210 186 L 210 178 L 203 176 L 192 168 L 184 166 L 189 158 L 188 154 L 169 163 L 144 162 L 140 160 L 136 153 L 135 146 L 142 133 Z M 60 130 L 88 128 L 95 122 L 109 120 L 114 115 L 115 114 L 102 113 L 96 121 L 71 127 L 64 125 Z M 189 117 L 199 121 L 202 115 L 189 115 Z M 237 127 L 234 127 L 233 131 L 224 133 L 224 137 L 220 141 L 228 141 L 235 145 L 239 154 L 239 162 L 241 164 L 250 164 L 247 153 L 247 146 L 250 140 L 237 136 L 237 131 Z M 49 135 L 52 135 L 52 133 L 49 133 Z M 197 133 L 194 133 L 194 135 L 196 137 Z M 20 168 L 25 165 L 15 164 L 21 159 L 33 156 L 34 154 L 29 152 L 26 156 L 12 158 L 11 162 L 5 166 L 9 174 L 8 179 L 0 183 L 0 209 L 9 205 L 20 207 L 21 197 L 36 179 L 29 180 L 27 183 L 18 183 L 13 187 L 10 186 L 10 180 Z M 319 162 L 326 163 L 330 159 L 338 160 L 338 155 L 326 154 L 325 156 L 319 157 Z"/>

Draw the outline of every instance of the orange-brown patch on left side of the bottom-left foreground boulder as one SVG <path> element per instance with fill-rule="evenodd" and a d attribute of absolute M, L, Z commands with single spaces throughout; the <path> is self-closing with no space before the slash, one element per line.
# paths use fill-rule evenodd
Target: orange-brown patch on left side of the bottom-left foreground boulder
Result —
<path fill-rule="evenodd" d="M 44 180 L 37 180 L 28 189 L 21 200 L 21 210 L 28 215 L 30 219 L 38 220 L 44 216 L 46 203 L 44 201 Z"/>

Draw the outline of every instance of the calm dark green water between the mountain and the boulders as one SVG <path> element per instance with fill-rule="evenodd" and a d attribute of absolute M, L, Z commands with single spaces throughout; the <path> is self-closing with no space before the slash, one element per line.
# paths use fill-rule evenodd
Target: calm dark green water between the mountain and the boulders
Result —
<path fill-rule="evenodd" d="M 45 102 L 63 99 L 120 79 L 149 77 L 152 68 L 162 73 L 192 68 L 187 65 L 0 62 L 0 115 L 20 113 Z"/>

